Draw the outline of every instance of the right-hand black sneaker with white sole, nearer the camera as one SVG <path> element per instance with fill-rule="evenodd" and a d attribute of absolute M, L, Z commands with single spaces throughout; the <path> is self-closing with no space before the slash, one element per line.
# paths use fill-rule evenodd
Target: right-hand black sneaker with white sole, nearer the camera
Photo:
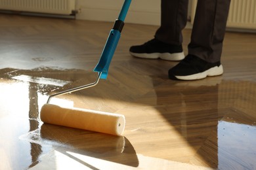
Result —
<path fill-rule="evenodd" d="M 175 67 L 169 69 L 169 78 L 173 80 L 198 80 L 206 76 L 218 76 L 222 74 L 223 65 L 221 65 L 220 61 L 208 63 L 190 54 Z"/>

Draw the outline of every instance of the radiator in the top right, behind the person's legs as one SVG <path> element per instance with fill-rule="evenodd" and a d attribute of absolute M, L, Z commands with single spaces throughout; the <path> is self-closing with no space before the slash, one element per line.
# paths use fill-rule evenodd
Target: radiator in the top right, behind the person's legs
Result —
<path fill-rule="evenodd" d="M 192 0 L 191 22 L 194 22 L 197 0 Z M 256 29 L 256 0 L 231 0 L 227 27 Z"/>

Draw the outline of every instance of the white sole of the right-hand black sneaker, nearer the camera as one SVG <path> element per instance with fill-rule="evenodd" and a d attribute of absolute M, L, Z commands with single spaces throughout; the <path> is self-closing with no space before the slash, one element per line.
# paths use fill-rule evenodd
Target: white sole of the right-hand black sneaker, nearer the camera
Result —
<path fill-rule="evenodd" d="M 199 80 L 203 79 L 207 76 L 219 76 L 223 74 L 223 65 L 220 65 L 219 67 L 212 67 L 211 69 L 208 69 L 207 71 L 203 71 L 202 73 L 197 73 L 194 75 L 188 75 L 188 76 L 175 76 L 179 80 Z"/>

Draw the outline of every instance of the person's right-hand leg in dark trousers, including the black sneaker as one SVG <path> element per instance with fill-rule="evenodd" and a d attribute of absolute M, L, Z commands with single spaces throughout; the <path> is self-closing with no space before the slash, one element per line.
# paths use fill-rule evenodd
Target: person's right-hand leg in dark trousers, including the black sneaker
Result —
<path fill-rule="evenodd" d="M 230 0 L 198 0 L 188 56 L 169 69 L 169 78 L 197 80 L 223 74 L 221 52 Z"/>

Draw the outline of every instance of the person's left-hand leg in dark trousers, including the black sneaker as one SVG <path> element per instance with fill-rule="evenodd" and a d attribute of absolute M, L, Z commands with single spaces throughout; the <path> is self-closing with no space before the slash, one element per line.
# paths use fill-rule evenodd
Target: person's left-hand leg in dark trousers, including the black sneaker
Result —
<path fill-rule="evenodd" d="M 138 58 L 161 58 L 179 61 L 184 58 L 182 29 L 187 21 L 188 0 L 161 0 L 161 26 L 155 39 L 131 46 L 131 55 Z"/>

